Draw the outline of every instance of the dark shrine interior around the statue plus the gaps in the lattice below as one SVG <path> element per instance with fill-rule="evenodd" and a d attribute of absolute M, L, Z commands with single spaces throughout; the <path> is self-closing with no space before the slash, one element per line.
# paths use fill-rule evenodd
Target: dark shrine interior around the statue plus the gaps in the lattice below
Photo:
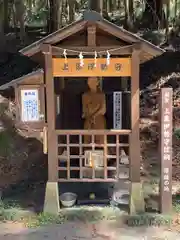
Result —
<path fill-rule="evenodd" d="M 83 118 L 82 118 L 82 95 L 84 92 L 88 91 L 88 78 L 55 78 L 55 96 L 56 96 L 56 129 L 60 130 L 81 130 L 84 129 L 83 126 Z M 126 86 L 123 83 L 126 81 Z M 130 129 L 130 78 L 120 78 L 120 77 L 106 77 L 101 78 L 100 80 L 100 89 L 105 94 L 106 98 L 106 129 L 113 129 L 113 93 L 114 92 L 122 92 L 122 105 L 121 105 L 121 113 L 122 113 L 122 129 Z M 104 130 L 104 129 L 103 129 Z M 58 148 L 58 154 L 61 155 L 61 160 L 59 160 L 59 167 L 67 167 L 66 146 L 67 136 L 59 136 L 58 143 L 65 144 L 64 147 Z M 69 143 L 71 144 L 79 144 L 79 135 L 70 136 Z M 119 142 L 128 144 L 128 136 L 120 136 Z M 116 136 L 108 136 L 107 144 L 116 143 Z M 91 148 L 89 148 L 91 149 Z M 87 148 L 83 148 L 82 152 L 84 153 Z M 103 150 L 104 147 L 95 147 L 94 150 Z M 127 155 L 129 155 L 129 147 L 123 147 L 119 149 L 123 150 Z M 116 166 L 116 147 L 107 147 L 108 154 L 111 155 L 107 159 L 107 166 L 115 167 Z M 70 154 L 70 167 L 80 167 L 79 160 L 79 146 L 69 147 Z M 63 159 L 64 156 L 64 159 Z M 83 166 L 85 163 L 83 162 Z M 89 169 L 88 171 L 91 171 Z M 79 178 L 80 172 L 79 170 L 70 171 L 71 178 Z M 102 170 L 103 173 L 103 170 Z M 109 177 L 114 177 L 113 174 L 115 171 L 108 171 Z M 59 171 L 59 178 L 67 178 L 67 171 Z M 86 175 L 86 174 L 85 174 Z M 103 174 L 100 174 L 100 171 L 95 170 L 95 175 L 98 178 L 103 178 Z M 101 176 L 102 175 L 102 176 Z M 91 178 L 91 174 L 85 176 L 86 178 Z M 66 185 L 66 184 L 65 184 Z M 90 184 L 92 186 L 92 184 Z"/>

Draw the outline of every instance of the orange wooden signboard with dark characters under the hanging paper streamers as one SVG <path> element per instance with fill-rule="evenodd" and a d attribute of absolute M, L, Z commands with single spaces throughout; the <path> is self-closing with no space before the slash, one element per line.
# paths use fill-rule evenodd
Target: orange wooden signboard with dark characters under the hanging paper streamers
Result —
<path fill-rule="evenodd" d="M 94 58 L 83 60 L 83 66 L 79 58 L 53 58 L 54 77 L 129 77 L 131 76 L 130 58 L 111 58 L 107 65 L 106 58 L 98 58 L 95 64 Z"/>

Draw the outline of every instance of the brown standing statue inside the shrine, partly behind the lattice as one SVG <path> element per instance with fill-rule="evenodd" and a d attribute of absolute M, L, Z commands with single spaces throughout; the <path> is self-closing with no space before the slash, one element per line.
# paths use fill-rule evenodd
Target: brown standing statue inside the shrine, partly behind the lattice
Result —
<path fill-rule="evenodd" d="M 88 78 L 89 91 L 82 96 L 84 129 L 106 129 L 106 99 L 105 94 L 99 89 L 96 77 Z M 84 137 L 84 143 L 90 143 L 91 136 Z M 95 136 L 96 144 L 104 143 L 104 136 Z"/>

